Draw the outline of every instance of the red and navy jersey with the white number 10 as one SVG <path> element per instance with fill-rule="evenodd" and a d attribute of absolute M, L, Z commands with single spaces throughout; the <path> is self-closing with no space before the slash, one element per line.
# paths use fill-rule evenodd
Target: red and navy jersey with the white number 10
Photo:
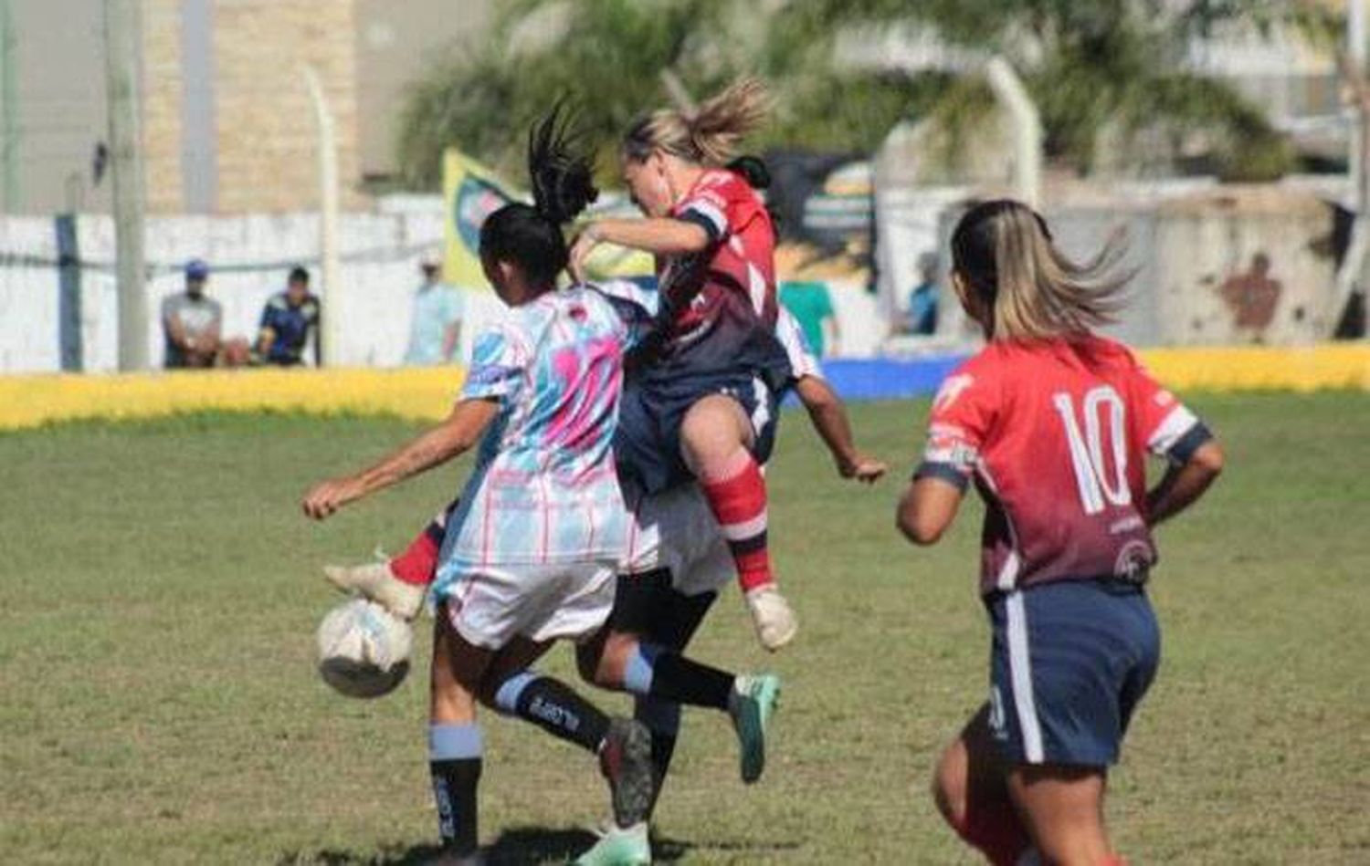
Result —
<path fill-rule="evenodd" d="M 1147 454 L 1182 462 L 1208 438 L 1121 343 L 993 342 L 943 383 L 915 477 L 975 482 L 982 594 L 1137 577 L 1156 562 Z"/>

